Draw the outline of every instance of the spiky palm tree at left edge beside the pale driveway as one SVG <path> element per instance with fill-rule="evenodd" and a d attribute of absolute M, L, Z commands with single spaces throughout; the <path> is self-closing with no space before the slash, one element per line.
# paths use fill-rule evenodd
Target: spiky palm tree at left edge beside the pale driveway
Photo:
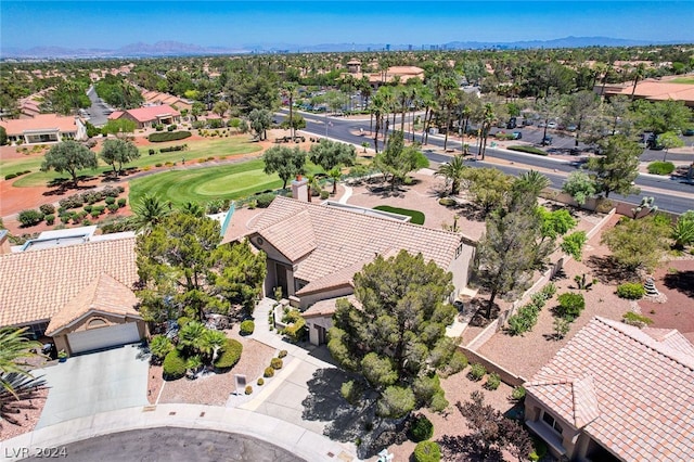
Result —
<path fill-rule="evenodd" d="M 20 396 L 14 378 L 17 376 L 34 378 L 28 372 L 31 365 L 26 362 L 26 358 L 41 356 L 35 352 L 40 350 L 41 344 L 25 336 L 27 329 L 0 329 L 0 384 L 2 390 L 15 399 L 20 399 Z"/>

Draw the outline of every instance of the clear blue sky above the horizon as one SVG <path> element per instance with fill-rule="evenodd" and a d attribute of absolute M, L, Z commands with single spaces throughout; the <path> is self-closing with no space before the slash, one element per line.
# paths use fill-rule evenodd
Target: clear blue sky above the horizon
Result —
<path fill-rule="evenodd" d="M 8 1 L 3 48 L 434 44 L 567 36 L 694 42 L 692 1 Z"/>

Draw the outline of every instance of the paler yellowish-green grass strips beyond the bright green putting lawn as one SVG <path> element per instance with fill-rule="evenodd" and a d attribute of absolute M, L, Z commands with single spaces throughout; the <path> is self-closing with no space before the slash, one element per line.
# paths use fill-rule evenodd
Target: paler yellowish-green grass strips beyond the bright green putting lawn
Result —
<path fill-rule="evenodd" d="M 162 147 L 188 144 L 188 151 L 177 151 L 171 153 L 159 153 Z M 235 155 L 249 154 L 261 150 L 260 144 L 248 141 L 247 137 L 224 138 L 222 140 L 202 140 L 187 143 L 185 140 L 171 141 L 167 143 L 153 143 L 146 146 L 139 146 L 140 158 L 124 165 L 126 167 L 152 167 L 155 164 L 180 163 L 182 158 L 185 162 L 196 162 L 197 159 L 206 159 L 208 157 L 231 157 Z M 150 150 L 156 151 L 156 154 L 150 155 Z M 99 155 L 99 153 L 97 153 Z M 17 188 L 44 187 L 49 181 L 55 178 L 66 178 L 65 174 L 56 174 L 55 171 L 39 171 L 42 155 L 26 156 L 26 158 L 0 161 L 0 175 L 4 178 L 8 174 L 16 174 L 17 171 L 31 170 L 14 182 Z M 94 170 L 80 170 L 78 175 L 98 176 L 104 171 L 110 171 L 111 166 L 99 161 L 99 168 Z"/>

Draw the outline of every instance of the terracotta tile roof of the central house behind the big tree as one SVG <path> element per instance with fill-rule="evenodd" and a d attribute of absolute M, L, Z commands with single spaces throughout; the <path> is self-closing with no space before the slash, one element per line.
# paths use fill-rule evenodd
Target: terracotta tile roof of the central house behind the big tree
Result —
<path fill-rule="evenodd" d="M 249 234 L 268 236 L 270 229 L 279 239 L 267 241 L 285 256 L 299 255 L 300 260 L 293 260 L 294 277 L 309 283 L 394 248 L 422 253 L 426 261 L 448 269 L 462 239 L 448 231 L 282 196 L 258 217 Z"/>

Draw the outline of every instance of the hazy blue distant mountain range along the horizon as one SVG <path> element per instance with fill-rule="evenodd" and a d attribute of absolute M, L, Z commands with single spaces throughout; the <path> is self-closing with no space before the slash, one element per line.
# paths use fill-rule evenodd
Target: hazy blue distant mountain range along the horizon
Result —
<path fill-rule="evenodd" d="M 195 56 L 213 54 L 247 53 L 319 53 L 349 51 L 402 51 L 402 50 L 484 50 L 484 49 L 537 49 L 537 48 L 582 48 L 582 47 L 635 47 L 645 44 L 673 44 L 678 41 L 653 42 L 646 40 L 615 39 L 609 37 L 564 37 L 553 40 L 527 40 L 513 42 L 453 41 L 436 44 L 386 44 L 386 43 L 322 43 L 297 46 L 291 43 L 264 43 L 231 47 L 201 47 L 177 41 L 131 43 L 116 50 L 101 48 L 69 49 L 62 47 L 35 47 L 30 49 L 2 48 L 0 59 L 99 59 L 99 57 L 156 57 Z"/>

